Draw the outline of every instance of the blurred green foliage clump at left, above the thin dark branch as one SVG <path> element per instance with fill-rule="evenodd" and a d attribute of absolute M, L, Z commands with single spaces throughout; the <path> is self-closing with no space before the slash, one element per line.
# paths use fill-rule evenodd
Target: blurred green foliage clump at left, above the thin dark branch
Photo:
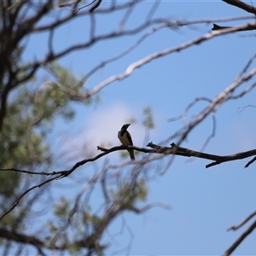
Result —
<path fill-rule="evenodd" d="M 55 64 L 52 70 L 71 84 L 70 87 L 78 84 L 66 68 Z M 23 84 L 11 97 L 0 134 L 1 167 L 27 168 L 32 164 L 51 163 L 46 134 L 56 114 L 65 119 L 74 116 L 70 96 L 60 90 L 61 86 L 45 81 L 39 89 L 33 89 L 37 84 Z"/>

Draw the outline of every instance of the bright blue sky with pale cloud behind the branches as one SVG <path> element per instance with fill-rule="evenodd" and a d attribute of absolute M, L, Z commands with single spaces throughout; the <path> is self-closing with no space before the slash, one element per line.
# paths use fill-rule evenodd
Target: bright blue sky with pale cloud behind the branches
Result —
<path fill-rule="evenodd" d="M 256 6 L 256 2 L 253 3 Z M 152 1 L 140 3 L 135 13 L 131 15 L 127 27 L 135 26 L 140 18 L 143 19 L 143 15 L 147 14 L 152 4 Z M 154 16 L 171 20 L 199 20 L 238 15 L 247 15 L 247 13 L 221 1 L 162 1 Z M 113 30 L 113 24 L 119 20 L 118 15 L 111 19 L 104 15 L 99 15 L 98 18 L 98 33 Z M 83 42 L 88 36 L 86 32 L 86 29 L 89 29 L 88 21 L 83 18 L 62 26 L 60 32 L 55 35 L 55 50 L 73 42 Z M 238 20 L 217 23 L 234 26 L 245 22 Z M 125 72 L 131 62 L 156 51 L 201 37 L 210 32 L 211 28 L 212 24 L 193 25 L 155 33 L 131 54 L 102 68 L 88 80 L 86 86 L 93 88 L 109 76 Z M 61 63 L 74 73 L 88 73 L 100 61 L 124 51 L 142 35 L 143 33 L 135 37 L 124 37 L 96 44 L 90 49 L 67 55 L 61 59 Z M 44 56 L 47 45 L 45 38 L 45 34 L 36 34 L 34 39 L 29 41 L 27 58 Z M 101 100 L 98 104 L 89 107 L 82 103 L 73 105 L 77 110 L 76 118 L 72 123 L 57 119 L 55 130 L 50 137 L 57 135 L 57 139 L 63 143 L 64 151 L 65 148 L 72 148 L 73 161 L 69 161 L 68 165 L 73 165 L 76 160 L 82 160 L 84 155 L 98 154 L 96 146 L 101 143 L 109 147 L 119 145 L 117 131 L 127 119 L 135 118 L 137 122 L 129 128 L 134 144 L 145 146 L 144 130 L 141 125 L 142 109 L 150 107 L 153 111 L 155 129 L 150 133 L 148 142 L 159 143 L 183 125 L 180 121 L 168 122 L 168 119 L 183 113 L 184 108 L 195 97 L 207 96 L 213 99 L 236 79 L 249 58 L 255 54 L 254 38 L 253 32 L 213 38 L 203 44 L 152 61 L 137 69 L 127 79 L 109 84 L 100 92 Z M 256 93 L 253 90 L 247 96 L 227 102 L 218 109 L 216 134 L 207 145 L 205 152 L 236 154 L 255 148 L 256 108 L 245 108 L 241 111 L 241 108 L 247 105 L 255 105 L 255 99 Z M 189 111 L 189 117 L 198 113 L 203 107 L 206 105 L 202 103 L 196 105 Z M 208 118 L 189 134 L 183 147 L 201 150 L 211 132 L 212 119 Z M 98 134 L 101 136 L 97 136 Z M 84 143 L 90 145 L 90 150 L 86 148 L 87 151 L 84 151 Z M 111 163 L 117 164 L 118 156 L 118 153 L 113 153 L 106 158 Z M 125 213 L 123 216 L 125 225 L 129 228 L 125 228 L 119 236 L 114 236 L 114 241 L 112 236 L 107 235 L 106 241 L 112 243 L 108 253 L 119 252 L 120 249 L 129 246 L 130 241 L 129 253 L 132 255 L 224 253 L 248 225 L 236 232 L 226 230 L 255 211 L 255 164 L 244 169 L 243 166 L 247 161 L 237 160 L 206 169 L 205 166 L 210 163 L 207 160 L 188 161 L 177 156 L 163 176 L 155 174 L 154 180 L 149 183 L 148 202 L 162 201 L 170 205 L 171 209 L 155 207 L 142 215 Z M 97 166 L 101 164 L 102 160 Z M 60 163 L 59 165 L 61 166 Z M 68 168 L 65 165 L 64 167 Z M 89 172 L 90 168 L 93 166 L 79 168 L 74 177 L 84 176 L 83 170 Z M 81 187 L 78 191 L 79 189 Z M 61 195 L 63 191 L 59 189 L 58 193 Z M 124 224 L 122 218 L 119 218 L 111 224 L 108 232 L 118 233 L 122 224 Z M 254 231 L 234 254 L 255 254 L 255 239 Z M 123 254 L 127 250 L 120 252 Z"/>

